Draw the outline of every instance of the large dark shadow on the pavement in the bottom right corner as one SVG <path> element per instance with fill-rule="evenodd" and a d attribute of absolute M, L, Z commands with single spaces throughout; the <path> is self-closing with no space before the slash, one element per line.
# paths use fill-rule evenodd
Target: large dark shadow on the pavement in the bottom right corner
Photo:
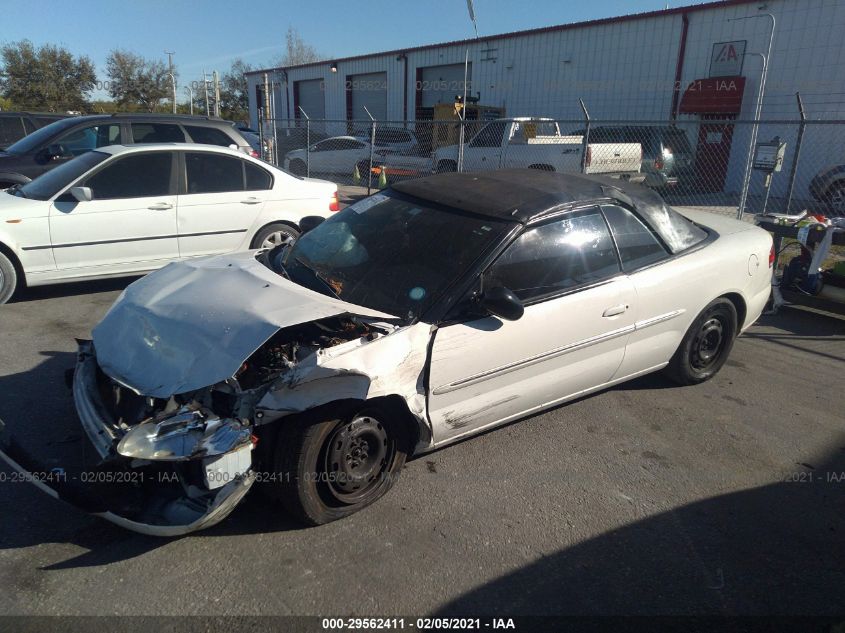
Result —
<path fill-rule="evenodd" d="M 842 615 L 845 435 L 808 466 L 544 556 L 438 615 Z"/>

